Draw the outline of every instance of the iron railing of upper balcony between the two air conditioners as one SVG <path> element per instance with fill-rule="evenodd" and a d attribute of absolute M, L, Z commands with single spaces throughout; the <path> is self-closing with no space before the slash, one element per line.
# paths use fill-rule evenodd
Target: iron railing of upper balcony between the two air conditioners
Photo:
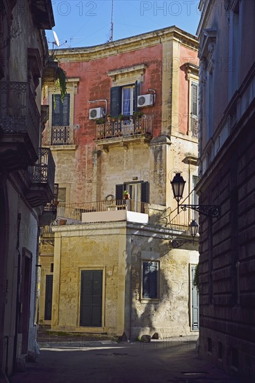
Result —
<path fill-rule="evenodd" d="M 138 135 L 151 135 L 154 116 L 144 114 L 140 118 L 128 120 L 115 120 L 96 124 L 96 139 L 115 139 L 119 137 L 131 137 Z"/>

